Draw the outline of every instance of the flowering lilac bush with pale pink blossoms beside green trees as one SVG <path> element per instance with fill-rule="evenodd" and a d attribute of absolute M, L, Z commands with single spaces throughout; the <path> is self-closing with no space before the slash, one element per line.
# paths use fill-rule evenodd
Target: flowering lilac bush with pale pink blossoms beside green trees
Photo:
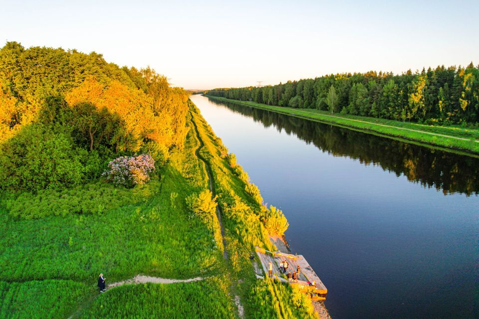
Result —
<path fill-rule="evenodd" d="M 147 154 L 139 156 L 122 156 L 108 163 L 103 176 L 115 185 L 133 187 L 150 180 L 150 173 L 155 170 L 155 160 Z"/>

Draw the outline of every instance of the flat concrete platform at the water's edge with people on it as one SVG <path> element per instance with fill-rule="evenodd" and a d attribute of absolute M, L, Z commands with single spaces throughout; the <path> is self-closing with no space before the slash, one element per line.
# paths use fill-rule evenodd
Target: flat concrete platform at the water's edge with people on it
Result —
<path fill-rule="evenodd" d="M 321 279 L 319 279 L 318 275 L 316 275 L 314 270 L 311 268 L 309 263 L 306 261 L 306 259 L 304 259 L 302 255 L 285 254 L 278 251 L 271 252 L 257 246 L 255 248 L 256 254 L 261 261 L 261 265 L 263 266 L 265 274 L 268 273 L 268 263 L 271 262 L 273 266 L 273 278 L 277 278 L 279 281 L 284 283 L 289 283 L 291 284 L 291 286 L 297 286 L 300 291 L 310 294 L 314 301 L 326 300 L 326 294 L 328 293 L 326 286 L 324 286 Z M 279 271 L 279 263 L 283 260 L 286 260 L 288 262 L 289 266 L 287 271 L 291 271 L 291 274 L 293 273 L 293 271 L 296 271 L 297 266 L 300 267 L 300 274 L 297 281 L 289 282 L 285 274 L 282 274 Z M 316 283 L 316 286 L 309 286 L 307 281 L 311 283 L 314 281 Z"/>

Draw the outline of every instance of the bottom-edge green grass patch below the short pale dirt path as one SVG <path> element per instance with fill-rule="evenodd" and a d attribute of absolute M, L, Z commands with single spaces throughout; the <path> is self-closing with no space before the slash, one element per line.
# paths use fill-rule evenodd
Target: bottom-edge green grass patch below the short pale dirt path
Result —
<path fill-rule="evenodd" d="M 99 296 L 84 319 L 237 318 L 221 278 L 205 282 L 126 285 Z"/>

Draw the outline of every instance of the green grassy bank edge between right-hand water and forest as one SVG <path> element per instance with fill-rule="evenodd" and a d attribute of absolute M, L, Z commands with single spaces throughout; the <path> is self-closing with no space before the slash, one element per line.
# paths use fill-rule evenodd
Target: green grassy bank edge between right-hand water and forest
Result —
<path fill-rule="evenodd" d="M 467 139 L 467 138 L 456 137 L 456 136 L 447 136 L 444 134 L 436 134 L 432 132 L 411 130 L 411 129 L 405 129 L 405 128 L 395 127 L 390 125 L 383 125 L 383 124 L 377 124 L 373 122 L 349 119 L 346 117 L 338 116 L 337 114 L 327 115 L 327 114 L 321 114 L 321 113 L 311 113 L 311 112 L 304 111 L 303 109 L 296 110 L 291 108 L 284 108 L 281 106 L 270 106 L 266 104 L 232 100 L 232 99 L 227 99 L 227 98 L 217 97 L 217 96 L 210 96 L 210 95 L 205 95 L 205 96 L 211 100 L 235 103 L 242 106 L 247 106 L 247 107 L 256 108 L 256 109 L 265 110 L 265 111 L 271 111 L 271 112 L 293 116 L 296 118 L 301 118 L 301 119 L 305 119 L 309 121 L 343 127 L 343 128 L 361 132 L 361 133 L 372 134 L 372 135 L 376 135 L 380 137 L 398 140 L 401 142 L 417 144 L 420 146 L 426 146 L 428 148 L 433 148 L 433 149 L 451 152 L 451 153 L 455 153 L 459 155 L 466 155 L 466 156 L 470 156 L 474 158 L 479 158 L 479 140 Z M 288 111 L 292 111 L 292 112 L 288 112 Z M 293 113 L 293 112 L 302 112 L 302 114 Z M 370 127 L 366 127 L 366 126 L 370 126 Z M 394 131 L 398 131 L 398 132 L 394 132 Z M 422 135 L 422 136 L 416 136 L 416 135 Z"/>

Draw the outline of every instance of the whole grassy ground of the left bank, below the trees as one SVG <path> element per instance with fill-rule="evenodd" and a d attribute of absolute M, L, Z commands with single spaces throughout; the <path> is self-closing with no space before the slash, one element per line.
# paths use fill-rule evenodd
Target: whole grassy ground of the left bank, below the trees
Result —
<path fill-rule="evenodd" d="M 247 318 L 312 318 L 310 303 L 296 308 L 288 285 L 257 280 L 248 258 L 253 245 L 272 248 L 259 221 L 260 205 L 245 191 L 246 182 L 233 173 L 226 151 L 193 106 L 185 148 L 176 150 L 160 176 L 121 206 L 101 213 L 24 219 L 0 208 L 0 318 L 235 318 L 233 296 L 239 294 Z M 192 118 L 212 167 L 230 260 L 217 244 L 219 225 L 190 218 L 184 198 L 207 187 L 207 174 L 195 155 L 199 147 Z M 85 188 L 90 187 L 85 185 Z M 97 189 L 94 186 L 93 189 Z M 138 193 L 142 200 L 137 200 Z M 79 192 L 95 206 L 95 192 Z M 6 196 L 9 209 L 50 205 L 51 197 Z M 80 198 L 81 199 L 81 198 Z M 62 203 L 68 205 L 68 202 Z M 71 205 L 77 205 L 73 203 Z M 50 207 L 50 206 L 48 206 Z M 64 206 L 67 211 L 77 211 Z M 46 209 L 43 207 L 43 209 Z M 33 212 L 34 210 L 32 210 Z M 26 215 L 27 218 L 35 217 Z M 98 295 L 96 278 L 107 282 L 148 274 L 165 278 L 208 277 L 185 284 L 126 285 Z M 233 294 L 232 294 L 233 293 Z M 250 306 L 251 305 L 251 306 Z"/>

